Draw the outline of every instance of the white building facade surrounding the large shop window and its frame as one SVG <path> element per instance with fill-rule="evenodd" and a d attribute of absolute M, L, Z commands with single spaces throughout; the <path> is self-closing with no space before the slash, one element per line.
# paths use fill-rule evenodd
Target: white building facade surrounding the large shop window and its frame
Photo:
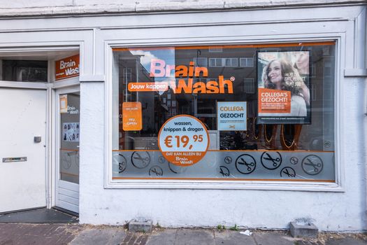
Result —
<path fill-rule="evenodd" d="M 78 2 L 87 4 L 86 1 L 71 1 L 74 5 Z M 3 15 L 6 15 L 5 8 L 12 11 L 17 8 L 10 4 L 1 6 Z M 63 4 L 69 4 L 69 1 L 60 1 L 59 4 L 66 6 Z M 88 1 L 88 4 L 92 2 Z M 284 14 L 285 10 L 269 11 L 249 10 L 205 15 L 212 15 L 212 18 L 205 18 L 202 13 L 192 13 L 196 19 L 182 18 L 177 13 L 31 18 L 27 22 L 24 19 L 1 20 L 4 25 L 0 27 L 0 48 L 80 43 L 84 66 L 80 76 L 83 81 L 80 85 L 80 223 L 121 225 L 132 218 L 143 217 L 166 227 L 236 224 L 248 228 L 287 228 L 289 222 L 296 218 L 309 218 L 321 230 L 366 229 L 366 78 L 344 76 L 345 69 L 350 69 L 352 73 L 356 69 L 366 69 L 365 39 L 359 36 L 361 33 L 365 36 L 366 29 L 356 28 L 358 21 L 363 23 L 366 20 L 366 6 L 295 8 L 287 10 L 289 15 Z M 243 16 L 245 20 L 236 25 L 239 20 L 230 18 L 234 15 Z M 268 23 L 261 24 L 261 18 Z M 218 20 L 230 25 L 205 24 Z M 189 27 L 199 22 L 202 27 Z M 274 25 L 272 22 L 283 24 Z M 165 29 L 167 23 L 173 25 L 169 31 Z M 182 24 L 189 25 L 181 29 L 178 26 Z M 157 28 L 147 28 L 152 25 Z M 109 29 L 110 26 L 115 29 Z M 361 26 L 366 28 L 366 22 Z M 35 29 L 44 32 L 32 32 Z M 105 72 L 108 70 L 105 63 L 108 62 L 106 45 L 111 41 L 129 45 L 143 42 L 152 45 L 154 41 L 175 43 L 187 35 L 191 36 L 188 42 L 210 43 L 220 40 L 215 37 L 219 34 L 213 34 L 213 29 L 217 29 L 218 33 L 229 31 L 231 35 L 226 35 L 224 40 L 232 42 L 264 40 L 261 38 L 294 41 L 297 38 L 327 39 L 336 34 L 340 36 L 342 41 L 338 46 L 337 59 L 340 78 L 337 94 L 340 115 L 337 122 L 337 151 L 340 153 L 338 165 L 343 191 L 151 189 L 150 186 L 143 189 L 104 188 L 108 165 L 106 154 L 110 154 L 106 141 L 106 85 L 101 82 L 108 78 Z M 24 30 L 27 32 L 24 33 Z M 142 33 L 147 36 L 142 36 Z M 151 40 L 142 41 L 142 37 L 150 37 Z"/>

